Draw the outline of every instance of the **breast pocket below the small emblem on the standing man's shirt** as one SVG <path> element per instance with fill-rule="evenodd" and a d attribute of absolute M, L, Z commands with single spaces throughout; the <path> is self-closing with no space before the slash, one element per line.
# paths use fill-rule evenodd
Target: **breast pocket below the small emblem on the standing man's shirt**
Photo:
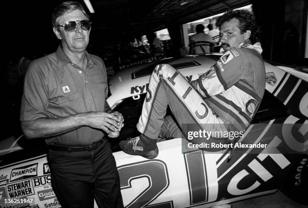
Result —
<path fill-rule="evenodd" d="M 82 99 L 80 93 L 55 97 L 49 100 L 48 111 L 57 117 L 85 113 L 85 110 L 85 101 Z"/>

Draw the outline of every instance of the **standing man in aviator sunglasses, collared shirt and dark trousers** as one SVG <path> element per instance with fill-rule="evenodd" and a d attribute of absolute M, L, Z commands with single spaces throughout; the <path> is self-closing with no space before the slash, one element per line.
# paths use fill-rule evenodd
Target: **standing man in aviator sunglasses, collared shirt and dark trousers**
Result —
<path fill-rule="evenodd" d="M 25 136 L 45 138 L 52 187 L 62 207 L 123 207 L 115 159 L 105 135 L 123 117 L 106 102 L 104 62 L 86 51 L 91 22 L 78 2 L 52 14 L 61 40 L 55 53 L 34 60 L 25 77 L 21 124 Z M 113 114 L 111 114 L 113 113 Z"/>

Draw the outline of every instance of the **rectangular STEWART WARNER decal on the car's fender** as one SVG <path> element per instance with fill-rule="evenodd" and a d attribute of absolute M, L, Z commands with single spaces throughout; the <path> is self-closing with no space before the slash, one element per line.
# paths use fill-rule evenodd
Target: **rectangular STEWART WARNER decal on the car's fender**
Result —
<path fill-rule="evenodd" d="M 35 194 L 31 179 L 8 184 L 7 190 L 10 198 Z"/>

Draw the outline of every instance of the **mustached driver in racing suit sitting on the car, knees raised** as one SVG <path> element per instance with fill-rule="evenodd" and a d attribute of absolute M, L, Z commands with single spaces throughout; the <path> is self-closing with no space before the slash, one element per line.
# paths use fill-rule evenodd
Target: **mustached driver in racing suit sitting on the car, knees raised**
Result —
<path fill-rule="evenodd" d="M 254 15 L 247 10 L 228 11 L 217 19 L 216 25 L 220 28 L 225 53 L 198 79 L 189 83 L 167 64 L 153 70 L 137 124 L 141 134 L 120 142 L 124 152 L 155 158 L 159 153 L 157 138 L 160 135 L 169 135 L 169 139 L 183 137 L 181 132 L 187 138 L 186 124 L 208 132 L 240 132 L 247 128 L 265 89 L 259 27 Z M 167 106 L 177 124 L 170 119 L 164 122 Z M 195 144 L 229 142 L 223 137 L 191 141 Z"/>

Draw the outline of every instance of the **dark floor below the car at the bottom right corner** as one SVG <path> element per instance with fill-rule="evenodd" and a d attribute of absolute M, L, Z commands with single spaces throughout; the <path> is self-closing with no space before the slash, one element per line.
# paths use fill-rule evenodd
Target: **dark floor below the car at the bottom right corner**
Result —
<path fill-rule="evenodd" d="M 308 197 L 308 194 L 307 194 Z M 297 203 L 280 190 L 273 194 L 259 196 L 232 203 L 232 208 L 308 208 L 308 205 Z"/>

